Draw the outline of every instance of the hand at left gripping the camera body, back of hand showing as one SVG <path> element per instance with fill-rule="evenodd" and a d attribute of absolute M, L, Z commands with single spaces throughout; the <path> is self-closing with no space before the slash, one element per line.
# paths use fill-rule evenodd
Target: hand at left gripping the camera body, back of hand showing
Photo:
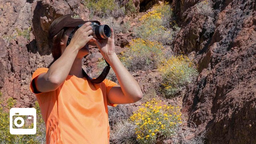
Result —
<path fill-rule="evenodd" d="M 86 22 L 84 25 L 82 25 L 76 32 L 74 33 L 74 36 L 72 37 L 70 44 L 73 46 L 76 46 L 76 48 L 83 48 L 89 40 L 93 38 L 93 36 L 89 36 L 92 34 L 92 24 L 91 22 Z"/>

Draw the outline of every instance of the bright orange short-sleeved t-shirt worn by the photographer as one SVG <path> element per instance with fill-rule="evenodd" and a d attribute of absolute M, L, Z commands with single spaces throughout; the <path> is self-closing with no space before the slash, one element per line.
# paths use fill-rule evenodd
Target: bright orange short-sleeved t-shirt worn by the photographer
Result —
<path fill-rule="evenodd" d="M 32 82 L 48 68 L 38 68 Z M 30 83 L 30 90 L 34 87 Z M 105 79 L 94 84 L 68 75 L 58 89 L 36 95 L 46 124 L 47 144 L 108 144 L 108 92 L 117 84 Z"/>

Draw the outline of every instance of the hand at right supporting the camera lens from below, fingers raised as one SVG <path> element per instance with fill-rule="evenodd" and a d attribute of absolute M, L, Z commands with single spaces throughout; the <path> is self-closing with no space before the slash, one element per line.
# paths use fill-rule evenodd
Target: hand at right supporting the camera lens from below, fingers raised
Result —
<path fill-rule="evenodd" d="M 95 44 L 100 49 L 100 53 L 102 56 L 108 61 L 108 59 L 115 55 L 115 40 L 114 40 L 114 30 L 113 28 L 110 28 L 111 30 L 111 36 L 109 38 L 103 39 L 103 40 L 96 40 L 95 38 L 92 38 L 92 40 L 95 42 Z"/>

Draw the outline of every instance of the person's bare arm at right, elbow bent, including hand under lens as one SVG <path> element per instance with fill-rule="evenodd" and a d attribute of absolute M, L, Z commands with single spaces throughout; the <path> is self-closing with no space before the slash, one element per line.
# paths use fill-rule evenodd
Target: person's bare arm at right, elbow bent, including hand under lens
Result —
<path fill-rule="evenodd" d="M 142 99 L 142 91 L 134 77 L 126 70 L 115 53 L 114 31 L 111 28 L 111 37 L 108 39 L 96 40 L 102 56 L 113 68 L 120 86 L 115 86 L 108 93 L 108 101 L 112 104 L 127 104 Z"/>

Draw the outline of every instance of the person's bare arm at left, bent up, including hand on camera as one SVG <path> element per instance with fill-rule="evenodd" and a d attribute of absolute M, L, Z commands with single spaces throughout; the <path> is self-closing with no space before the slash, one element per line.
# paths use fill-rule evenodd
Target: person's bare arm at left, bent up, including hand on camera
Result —
<path fill-rule="evenodd" d="M 68 76 L 72 64 L 80 48 L 93 37 L 91 22 L 81 26 L 74 34 L 70 44 L 66 47 L 63 54 L 56 60 L 46 73 L 42 73 L 36 80 L 36 89 L 40 92 L 50 92 L 56 90 Z"/>

